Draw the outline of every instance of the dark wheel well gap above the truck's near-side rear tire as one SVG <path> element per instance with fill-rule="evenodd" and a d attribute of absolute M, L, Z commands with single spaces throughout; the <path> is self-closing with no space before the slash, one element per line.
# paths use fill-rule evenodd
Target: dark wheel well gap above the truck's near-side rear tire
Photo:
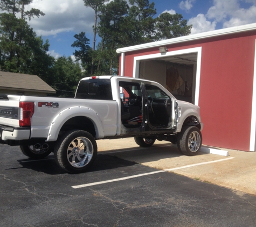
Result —
<path fill-rule="evenodd" d="M 78 116 L 68 119 L 61 127 L 60 132 L 63 133 L 72 129 L 84 130 L 91 133 L 93 137 L 96 136 L 95 127 L 92 120 L 87 117 Z"/>

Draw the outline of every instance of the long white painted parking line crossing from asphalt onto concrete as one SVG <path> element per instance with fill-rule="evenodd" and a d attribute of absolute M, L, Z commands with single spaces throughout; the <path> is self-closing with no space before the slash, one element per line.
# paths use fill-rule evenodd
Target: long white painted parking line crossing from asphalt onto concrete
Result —
<path fill-rule="evenodd" d="M 171 168 L 171 169 L 164 169 L 163 171 L 155 171 L 155 172 L 150 172 L 150 173 L 143 173 L 143 174 L 138 174 L 138 175 L 133 175 L 133 176 L 127 176 L 126 178 L 117 178 L 117 179 L 107 180 L 107 181 L 87 183 L 85 185 L 72 186 L 72 188 L 77 189 L 77 188 L 84 188 L 84 187 L 89 187 L 89 186 L 94 186 L 94 185 L 101 185 L 103 183 L 122 181 L 122 180 L 127 180 L 127 179 L 132 179 L 132 178 L 139 178 L 140 176 L 146 176 L 146 175 L 151 175 L 151 174 L 156 174 L 156 173 L 163 173 L 163 172 L 167 172 L 167 171 L 174 171 L 176 169 L 189 168 L 189 167 L 193 167 L 193 166 L 205 165 L 205 164 L 210 164 L 210 163 L 213 163 L 213 162 L 226 161 L 226 160 L 230 160 L 230 159 L 234 159 L 234 157 L 226 158 L 226 159 L 219 159 L 219 160 L 215 160 L 215 161 L 201 162 L 201 163 L 197 163 L 197 164 L 192 164 L 192 165 L 188 165 L 188 166 L 181 166 L 181 167 L 176 167 L 176 168 Z"/>

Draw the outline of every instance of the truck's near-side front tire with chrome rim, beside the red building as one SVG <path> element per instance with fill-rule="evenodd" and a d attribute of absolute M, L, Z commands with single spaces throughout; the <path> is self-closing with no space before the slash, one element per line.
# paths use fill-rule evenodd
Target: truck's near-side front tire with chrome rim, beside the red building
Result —
<path fill-rule="evenodd" d="M 196 126 L 185 126 L 177 135 L 177 145 L 182 154 L 197 155 L 202 146 L 202 133 Z"/>

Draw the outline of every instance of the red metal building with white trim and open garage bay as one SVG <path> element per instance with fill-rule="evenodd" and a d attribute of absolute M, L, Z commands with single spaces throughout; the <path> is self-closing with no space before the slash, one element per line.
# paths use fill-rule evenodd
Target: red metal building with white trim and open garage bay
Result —
<path fill-rule="evenodd" d="M 256 23 L 124 47 L 119 72 L 199 105 L 203 144 L 256 151 L 255 40 Z"/>

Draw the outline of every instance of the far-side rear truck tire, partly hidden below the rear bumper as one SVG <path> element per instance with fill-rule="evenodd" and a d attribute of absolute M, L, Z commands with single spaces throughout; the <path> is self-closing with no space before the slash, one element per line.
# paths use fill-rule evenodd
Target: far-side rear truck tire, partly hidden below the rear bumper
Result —
<path fill-rule="evenodd" d="M 48 156 L 53 152 L 54 144 L 44 144 L 45 147 L 39 147 L 36 148 L 36 145 L 40 144 L 35 144 L 35 145 L 20 145 L 20 151 L 22 151 L 23 154 L 25 154 L 27 157 L 32 158 L 32 159 L 42 159 Z M 47 146 L 46 146 L 47 145 Z"/>

